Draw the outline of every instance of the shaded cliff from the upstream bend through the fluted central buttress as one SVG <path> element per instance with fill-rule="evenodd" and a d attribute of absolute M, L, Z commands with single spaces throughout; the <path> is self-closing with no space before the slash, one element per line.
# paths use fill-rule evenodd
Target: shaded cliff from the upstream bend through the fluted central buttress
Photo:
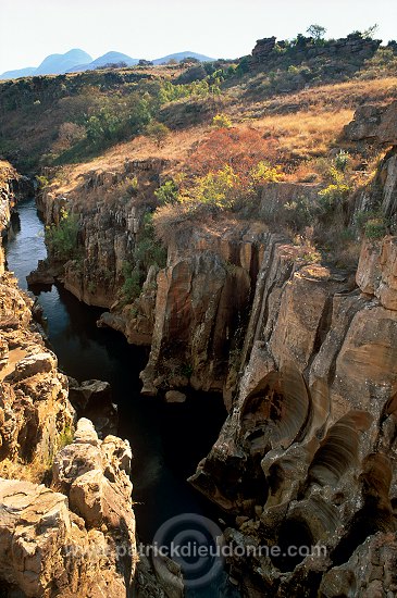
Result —
<path fill-rule="evenodd" d="M 48 223 L 57 223 L 64 209 L 79 214 L 82 254 L 64 265 L 61 278 L 80 300 L 110 308 L 99 325 L 151 347 L 144 393 L 189 385 L 222 391 L 236 336 L 247 321 L 265 226 L 225 221 L 197 227 L 188 239 L 182 236 L 170 244 L 165 269 L 147 266 L 139 297 L 125 304 L 121 287 L 126 267 L 133 267 L 137 249 L 145 247 L 145 217 L 157 204 L 153 191 L 165 166 L 134 162 L 119 174 L 91 173 L 74 192 L 44 192 L 38 207 Z M 138 178 L 139 191 L 123 200 L 117 185 L 126 172 Z M 113 194 L 113 200 L 91 202 L 89 189 L 92 197 Z"/>

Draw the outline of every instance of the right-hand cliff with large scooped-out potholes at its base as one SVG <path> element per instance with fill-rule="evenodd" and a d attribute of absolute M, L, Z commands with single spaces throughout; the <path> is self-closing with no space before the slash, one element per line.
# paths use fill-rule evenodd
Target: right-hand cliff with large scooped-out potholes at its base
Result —
<path fill-rule="evenodd" d="M 390 110 L 370 137 L 394 139 L 384 127 Z M 392 221 L 394 152 L 364 191 L 367 209 Z M 231 559 L 245 596 L 397 591 L 396 244 L 392 235 L 363 244 L 355 286 L 344 272 L 299 264 L 294 247 L 269 239 L 232 410 L 190 482 L 237 515 L 227 532 L 235 546 L 326 552 Z"/>

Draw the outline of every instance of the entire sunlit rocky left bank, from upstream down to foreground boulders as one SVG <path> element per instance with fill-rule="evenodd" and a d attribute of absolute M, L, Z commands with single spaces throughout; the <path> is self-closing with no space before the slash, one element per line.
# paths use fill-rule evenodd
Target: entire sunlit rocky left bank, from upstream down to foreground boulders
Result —
<path fill-rule="evenodd" d="M 13 199 L 7 185 L 4 202 Z M 0 251 L 2 595 L 129 596 L 137 560 L 129 445 L 100 440 L 88 420 L 75 426 L 67 378 Z"/>

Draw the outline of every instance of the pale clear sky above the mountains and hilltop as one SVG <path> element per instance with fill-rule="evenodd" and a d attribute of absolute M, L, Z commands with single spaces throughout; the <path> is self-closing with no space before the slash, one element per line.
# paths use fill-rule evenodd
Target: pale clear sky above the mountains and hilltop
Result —
<path fill-rule="evenodd" d="M 397 38 L 396 0 L 1 0 L 0 15 L 0 73 L 71 48 L 94 58 L 109 50 L 148 59 L 183 50 L 235 58 L 256 39 L 291 38 L 311 23 L 330 37 L 377 23 L 376 37 Z"/>

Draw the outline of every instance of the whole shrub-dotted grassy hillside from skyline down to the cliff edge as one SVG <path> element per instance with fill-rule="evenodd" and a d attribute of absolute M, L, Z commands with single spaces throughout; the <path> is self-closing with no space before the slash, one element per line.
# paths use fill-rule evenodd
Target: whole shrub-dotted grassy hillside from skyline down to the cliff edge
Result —
<path fill-rule="evenodd" d="M 260 40 L 235 62 L 3 82 L 0 152 L 76 212 L 135 198 L 165 244 L 220 219 L 263 219 L 268 185 L 301 185 L 293 199 L 281 191 L 284 203 L 268 225 L 315 260 L 353 267 L 365 217 L 377 214 L 352 223 L 351 201 L 375 177 L 385 148 L 351 144 L 343 132 L 359 107 L 397 98 L 394 46 L 361 34 L 280 43 Z M 156 164 L 158 174 L 142 166 L 128 175 L 135 163 Z M 101 173 L 114 176 L 90 188 Z"/>

